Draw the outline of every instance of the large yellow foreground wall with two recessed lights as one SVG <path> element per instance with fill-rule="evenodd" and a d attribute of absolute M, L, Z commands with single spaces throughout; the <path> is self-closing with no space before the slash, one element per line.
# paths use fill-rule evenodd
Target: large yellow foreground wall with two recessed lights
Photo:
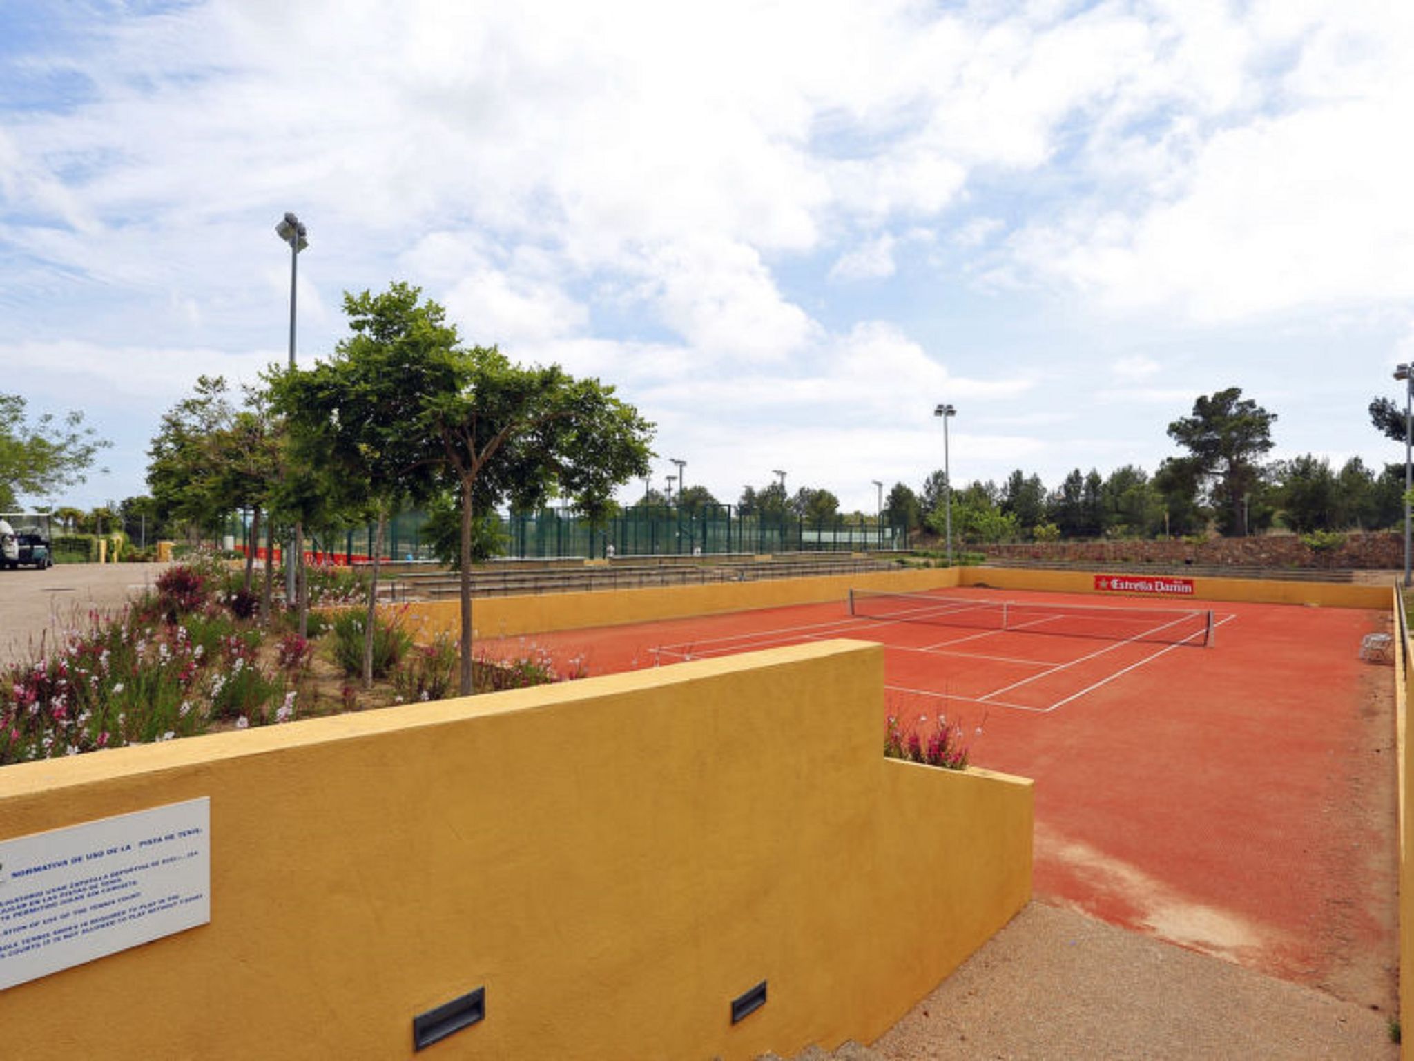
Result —
<path fill-rule="evenodd" d="M 212 921 L 0 992 L 0 1054 L 385 1061 L 478 986 L 427 1057 L 871 1040 L 1031 891 L 1031 782 L 884 760 L 882 669 L 834 641 L 6 767 L 0 839 L 209 796 Z"/>

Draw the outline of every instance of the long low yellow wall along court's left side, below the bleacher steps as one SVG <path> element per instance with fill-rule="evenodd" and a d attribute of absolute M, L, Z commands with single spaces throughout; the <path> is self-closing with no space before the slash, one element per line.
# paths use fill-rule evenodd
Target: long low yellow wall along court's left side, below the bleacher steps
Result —
<path fill-rule="evenodd" d="M 957 569 L 911 569 L 833 574 L 812 579 L 724 581 L 706 586 L 655 586 L 638 590 L 587 590 L 522 597 L 477 597 L 472 622 L 478 637 L 519 637 L 550 630 L 617 627 L 689 615 L 713 615 L 786 604 L 843 601 L 850 589 L 922 591 L 957 584 Z M 455 600 L 397 605 L 417 637 L 455 634 L 461 603 Z"/>

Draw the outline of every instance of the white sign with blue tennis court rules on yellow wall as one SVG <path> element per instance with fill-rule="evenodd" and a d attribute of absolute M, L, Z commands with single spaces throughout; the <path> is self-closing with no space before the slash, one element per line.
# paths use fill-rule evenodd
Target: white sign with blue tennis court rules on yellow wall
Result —
<path fill-rule="evenodd" d="M 211 921 L 211 799 L 0 840 L 0 990 Z"/>

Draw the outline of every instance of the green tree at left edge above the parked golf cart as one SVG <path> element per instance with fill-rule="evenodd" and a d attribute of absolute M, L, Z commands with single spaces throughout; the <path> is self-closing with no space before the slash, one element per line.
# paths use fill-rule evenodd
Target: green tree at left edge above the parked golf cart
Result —
<path fill-rule="evenodd" d="M 20 395 L 0 393 L 0 512 L 18 508 L 20 498 L 54 494 L 83 482 L 99 450 L 112 443 L 83 423 L 83 413 L 24 417 Z"/>

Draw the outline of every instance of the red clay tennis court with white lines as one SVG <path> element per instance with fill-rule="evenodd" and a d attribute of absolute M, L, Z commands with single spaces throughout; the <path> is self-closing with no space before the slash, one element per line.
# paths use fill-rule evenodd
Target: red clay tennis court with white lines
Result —
<path fill-rule="evenodd" d="M 887 713 L 1035 779 L 1038 898 L 1393 1011 L 1393 683 L 1359 659 L 1387 624 L 970 587 L 482 645 L 601 675 L 878 642 Z"/>

